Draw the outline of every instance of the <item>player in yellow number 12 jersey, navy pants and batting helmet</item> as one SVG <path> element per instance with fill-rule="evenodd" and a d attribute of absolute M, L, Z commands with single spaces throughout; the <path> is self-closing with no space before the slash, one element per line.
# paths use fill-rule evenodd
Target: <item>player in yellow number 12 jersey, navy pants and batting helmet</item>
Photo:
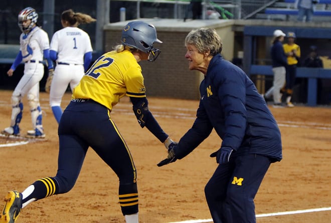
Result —
<path fill-rule="evenodd" d="M 160 50 L 154 26 L 129 22 L 122 30 L 122 44 L 97 59 L 74 88 L 72 101 L 64 110 L 58 128 L 59 157 L 55 177 L 38 179 L 22 193 L 9 191 L 1 220 L 15 222 L 21 208 L 74 186 L 89 146 L 119 178 L 119 204 L 127 223 L 138 223 L 137 171 L 123 137 L 110 117 L 119 99 L 129 96 L 138 123 L 169 150 L 170 139 L 148 109 L 140 61 L 154 61 Z M 109 184 L 111 182 L 104 182 Z M 7 219 L 7 221 L 6 221 Z M 1 221 L 0 222 L 3 222 Z"/>

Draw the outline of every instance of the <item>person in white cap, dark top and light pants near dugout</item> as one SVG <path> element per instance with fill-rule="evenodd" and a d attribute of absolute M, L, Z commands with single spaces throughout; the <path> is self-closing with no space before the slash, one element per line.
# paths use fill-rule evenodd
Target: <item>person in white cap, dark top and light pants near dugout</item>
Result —
<path fill-rule="evenodd" d="M 272 41 L 270 51 L 272 60 L 273 86 L 263 96 L 267 101 L 267 98 L 273 94 L 273 106 L 275 108 L 280 108 L 283 107 L 281 103 L 282 94 L 280 93 L 280 89 L 285 86 L 285 67 L 287 67 L 287 57 L 282 45 L 286 35 L 281 30 L 275 30 L 273 32 L 273 36 L 274 39 Z"/>

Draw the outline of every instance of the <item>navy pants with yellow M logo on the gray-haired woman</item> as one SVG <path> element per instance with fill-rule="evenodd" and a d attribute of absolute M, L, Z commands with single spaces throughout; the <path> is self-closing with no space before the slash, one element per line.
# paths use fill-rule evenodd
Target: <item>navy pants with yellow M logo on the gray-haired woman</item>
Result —
<path fill-rule="evenodd" d="M 205 186 L 214 223 L 256 222 L 254 197 L 270 163 L 266 156 L 246 154 L 218 165 Z"/>

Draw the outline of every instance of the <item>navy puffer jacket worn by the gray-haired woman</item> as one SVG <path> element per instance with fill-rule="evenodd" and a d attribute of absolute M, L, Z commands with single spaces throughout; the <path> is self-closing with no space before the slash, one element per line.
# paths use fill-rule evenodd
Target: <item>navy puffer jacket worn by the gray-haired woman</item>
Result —
<path fill-rule="evenodd" d="M 278 125 L 254 83 L 239 67 L 216 55 L 200 84 L 200 104 L 191 129 L 175 147 L 181 159 L 192 152 L 213 128 L 231 147 L 233 156 L 261 154 L 282 159 Z M 217 148 L 218 149 L 218 148 Z"/>

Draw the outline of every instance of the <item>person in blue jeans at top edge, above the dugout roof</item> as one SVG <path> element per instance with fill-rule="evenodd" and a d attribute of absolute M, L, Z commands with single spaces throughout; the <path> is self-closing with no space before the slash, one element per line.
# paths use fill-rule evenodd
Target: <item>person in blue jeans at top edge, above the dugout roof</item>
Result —
<path fill-rule="evenodd" d="M 310 22 L 317 3 L 319 3 L 319 0 L 295 0 L 294 8 L 298 9 L 297 21 L 303 22 L 305 16 L 305 22 Z"/>

